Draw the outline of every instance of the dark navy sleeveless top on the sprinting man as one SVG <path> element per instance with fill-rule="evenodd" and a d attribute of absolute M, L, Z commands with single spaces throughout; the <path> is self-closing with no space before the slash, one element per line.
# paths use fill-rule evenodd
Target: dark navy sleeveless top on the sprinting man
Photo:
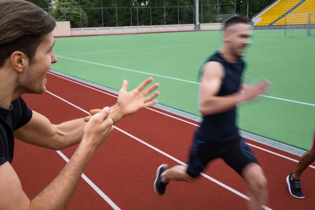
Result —
<path fill-rule="evenodd" d="M 238 59 L 229 63 L 216 52 L 208 61 L 216 61 L 223 65 L 225 77 L 217 96 L 226 96 L 240 89 L 242 72 L 245 63 Z M 200 127 L 195 131 L 195 136 L 203 141 L 227 142 L 239 138 L 238 127 L 235 124 L 236 108 L 218 114 L 203 116 Z"/>

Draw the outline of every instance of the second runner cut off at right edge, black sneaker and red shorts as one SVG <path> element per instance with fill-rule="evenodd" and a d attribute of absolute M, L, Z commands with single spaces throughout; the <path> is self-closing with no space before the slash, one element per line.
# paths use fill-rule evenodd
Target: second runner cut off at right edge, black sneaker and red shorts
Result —
<path fill-rule="evenodd" d="M 302 155 L 298 164 L 296 165 L 295 171 L 286 177 L 286 183 L 289 187 L 289 192 L 293 197 L 304 198 L 304 194 L 301 189 L 301 175 L 303 171 L 315 161 L 315 130 L 313 137 L 313 146 L 311 149 Z"/>

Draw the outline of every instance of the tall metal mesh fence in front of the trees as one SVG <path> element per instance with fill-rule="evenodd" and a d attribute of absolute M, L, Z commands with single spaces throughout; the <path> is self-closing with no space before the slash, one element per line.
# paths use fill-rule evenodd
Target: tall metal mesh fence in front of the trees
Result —
<path fill-rule="evenodd" d="M 49 8 L 43 9 L 57 21 L 70 21 L 72 28 L 196 24 L 195 0 L 191 0 L 188 5 L 187 1 L 186 5 L 181 5 L 180 0 L 146 1 L 148 4 L 136 5 L 131 2 L 137 1 L 130 1 L 130 4 L 124 7 L 118 7 L 118 0 L 94 1 L 99 3 L 99 7 L 83 7 L 81 1 L 74 0 L 71 1 L 75 4 L 67 5 L 67 1 L 69 0 L 47 0 Z M 235 14 L 235 0 L 229 2 L 223 4 L 223 0 L 200 0 L 197 22 L 223 22 Z"/>

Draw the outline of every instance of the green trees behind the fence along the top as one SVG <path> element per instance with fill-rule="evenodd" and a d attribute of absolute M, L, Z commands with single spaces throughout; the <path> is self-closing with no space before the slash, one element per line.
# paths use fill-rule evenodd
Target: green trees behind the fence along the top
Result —
<path fill-rule="evenodd" d="M 247 16 L 247 2 L 251 19 L 274 1 L 199 0 L 199 22 L 216 23 L 218 14 L 234 14 L 234 11 Z M 51 5 L 51 0 L 29 2 L 49 12 L 57 21 L 70 21 L 72 28 L 195 22 L 195 0 L 56 0 L 55 5 Z"/>

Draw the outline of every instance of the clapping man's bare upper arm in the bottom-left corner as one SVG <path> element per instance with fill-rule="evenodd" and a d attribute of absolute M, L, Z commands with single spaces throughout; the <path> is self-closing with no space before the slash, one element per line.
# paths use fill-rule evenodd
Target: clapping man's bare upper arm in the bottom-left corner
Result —
<path fill-rule="evenodd" d="M 0 209 L 29 209 L 30 199 L 9 162 L 0 165 Z"/>

